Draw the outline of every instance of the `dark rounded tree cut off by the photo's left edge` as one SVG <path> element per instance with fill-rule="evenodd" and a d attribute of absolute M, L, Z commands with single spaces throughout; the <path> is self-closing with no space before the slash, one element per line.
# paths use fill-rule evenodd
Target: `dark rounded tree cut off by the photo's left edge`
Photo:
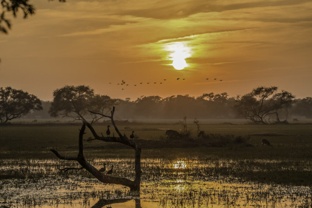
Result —
<path fill-rule="evenodd" d="M 21 118 L 32 110 L 42 110 L 37 96 L 21 89 L 0 88 L 0 123 Z"/>

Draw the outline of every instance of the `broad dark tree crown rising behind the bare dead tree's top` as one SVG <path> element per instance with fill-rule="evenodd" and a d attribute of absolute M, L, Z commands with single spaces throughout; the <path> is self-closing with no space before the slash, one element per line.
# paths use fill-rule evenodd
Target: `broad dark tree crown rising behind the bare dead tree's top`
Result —
<path fill-rule="evenodd" d="M 103 116 L 90 114 L 88 110 L 106 114 L 115 102 L 115 99 L 111 99 L 107 95 L 94 94 L 94 89 L 89 86 L 66 85 L 54 90 L 49 113 L 52 117 L 63 116 L 85 122 L 90 117 L 92 121 L 96 122 Z"/>

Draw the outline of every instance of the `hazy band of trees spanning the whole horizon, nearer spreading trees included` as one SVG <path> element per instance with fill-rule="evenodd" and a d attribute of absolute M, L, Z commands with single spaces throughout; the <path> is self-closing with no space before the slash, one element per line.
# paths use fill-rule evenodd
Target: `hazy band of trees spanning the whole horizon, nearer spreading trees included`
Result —
<path fill-rule="evenodd" d="M 107 114 L 112 106 L 118 106 L 118 119 L 181 119 L 183 116 L 197 119 L 248 119 L 251 123 L 280 123 L 290 118 L 312 118 L 312 97 L 295 99 L 276 86 L 257 87 L 250 93 L 229 97 L 227 93 L 207 93 L 192 97 L 173 95 L 141 96 L 114 99 L 95 94 L 89 86 L 69 86 L 56 89 L 52 101 L 40 101 L 35 95 L 11 87 L 0 88 L 0 123 L 12 119 L 68 118 L 100 122 L 103 116 L 89 111 Z"/>

